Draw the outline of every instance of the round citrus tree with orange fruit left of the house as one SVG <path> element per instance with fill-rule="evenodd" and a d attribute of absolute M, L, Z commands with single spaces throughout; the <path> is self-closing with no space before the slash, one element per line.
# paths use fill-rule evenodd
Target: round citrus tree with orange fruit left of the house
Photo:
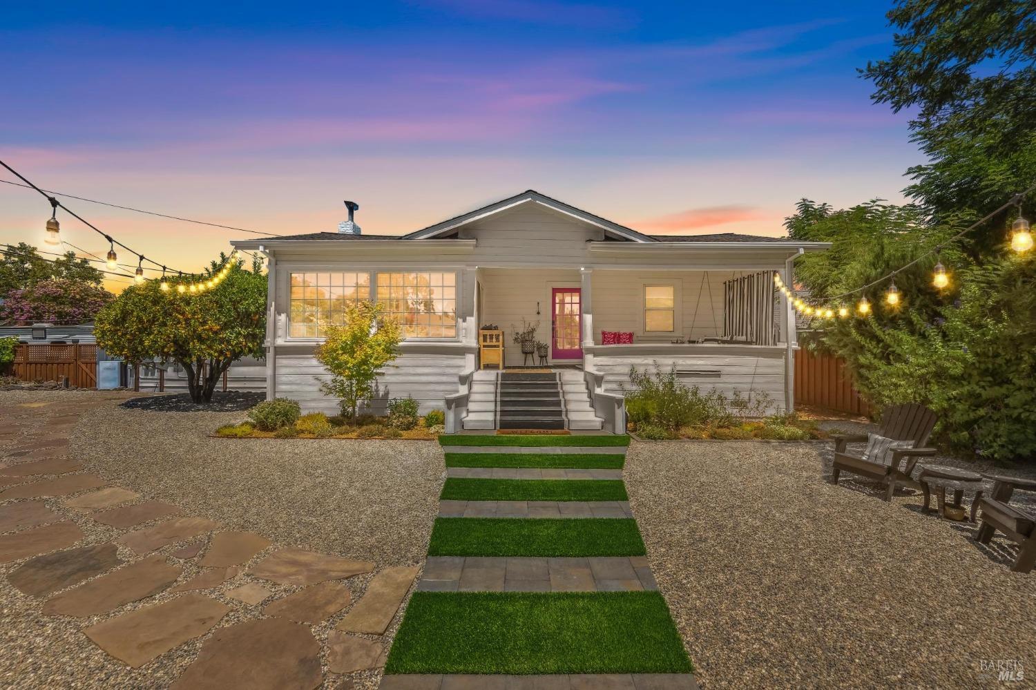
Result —
<path fill-rule="evenodd" d="M 235 360 L 263 356 L 266 335 L 266 278 L 237 260 L 229 265 L 226 278 L 204 292 L 177 290 L 198 277 L 170 279 L 165 291 L 159 281 L 126 288 L 97 314 L 97 344 L 132 364 L 177 362 L 188 374 L 191 399 L 211 401 Z"/>

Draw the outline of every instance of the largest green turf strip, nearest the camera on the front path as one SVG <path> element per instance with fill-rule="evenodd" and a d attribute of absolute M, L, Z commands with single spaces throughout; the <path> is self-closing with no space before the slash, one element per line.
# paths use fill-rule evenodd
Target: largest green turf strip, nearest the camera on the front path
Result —
<path fill-rule="evenodd" d="M 416 592 L 386 673 L 690 673 L 657 592 Z"/>

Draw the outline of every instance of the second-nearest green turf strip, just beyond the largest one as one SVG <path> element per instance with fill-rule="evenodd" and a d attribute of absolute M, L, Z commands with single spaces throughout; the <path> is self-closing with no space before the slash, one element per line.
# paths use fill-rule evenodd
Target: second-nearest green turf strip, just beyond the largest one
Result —
<path fill-rule="evenodd" d="M 628 518 L 436 518 L 428 555 L 644 555 Z"/>

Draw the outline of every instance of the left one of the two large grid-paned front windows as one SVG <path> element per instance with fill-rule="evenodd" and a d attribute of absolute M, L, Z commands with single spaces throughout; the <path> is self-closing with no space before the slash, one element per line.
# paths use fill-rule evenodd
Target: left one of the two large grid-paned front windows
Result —
<path fill-rule="evenodd" d="M 291 274 L 292 338 L 322 338 L 323 326 L 345 323 L 345 307 L 371 298 L 370 274 Z"/>

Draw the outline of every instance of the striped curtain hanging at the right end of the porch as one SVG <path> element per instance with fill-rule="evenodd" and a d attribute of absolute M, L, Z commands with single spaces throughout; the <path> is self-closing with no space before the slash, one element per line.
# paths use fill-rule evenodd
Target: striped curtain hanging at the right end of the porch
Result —
<path fill-rule="evenodd" d="M 723 283 L 723 337 L 752 345 L 776 345 L 780 328 L 775 315 L 774 270 L 742 276 Z"/>

